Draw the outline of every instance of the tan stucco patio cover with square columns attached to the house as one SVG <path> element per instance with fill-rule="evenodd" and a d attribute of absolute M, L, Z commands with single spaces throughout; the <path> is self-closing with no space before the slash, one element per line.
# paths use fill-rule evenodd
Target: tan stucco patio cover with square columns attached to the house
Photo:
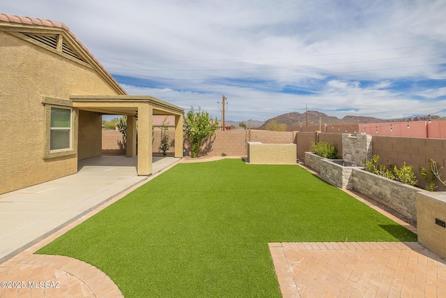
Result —
<path fill-rule="evenodd" d="M 73 107 L 102 114 L 127 115 L 126 156 L 138 156 L 138 175 L 152 173 L 152 117 L 175 116 L 175 157 L 183 156 L 182 107 L 152 96 L 85 96 L 71 95 Z M 138 121 L 138 136 L 137 136 Z M 138 138 L 138 140 L 137 140 Z M 138 141 L 138 147 L 137 147 Z M 138 151 L 137 151 L 138 150 Z"/>

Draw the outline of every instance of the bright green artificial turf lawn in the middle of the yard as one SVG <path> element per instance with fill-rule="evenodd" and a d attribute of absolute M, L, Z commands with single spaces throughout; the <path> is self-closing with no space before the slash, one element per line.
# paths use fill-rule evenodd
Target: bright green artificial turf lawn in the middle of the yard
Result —
<path fill-rule="evenodd" d="M 298 165 L 178 164 L 38 253 L 104 271 L 124 297 L 280 297 L 268 242 L 416 241 Z"/>

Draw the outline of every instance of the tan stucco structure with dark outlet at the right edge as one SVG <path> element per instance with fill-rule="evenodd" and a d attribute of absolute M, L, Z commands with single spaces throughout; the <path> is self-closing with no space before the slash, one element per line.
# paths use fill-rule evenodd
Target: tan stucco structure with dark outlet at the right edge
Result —
<path fill-rule="evenodd" d="M 417 194 L 418 241 L 446 259 L 446 193 Z"/>

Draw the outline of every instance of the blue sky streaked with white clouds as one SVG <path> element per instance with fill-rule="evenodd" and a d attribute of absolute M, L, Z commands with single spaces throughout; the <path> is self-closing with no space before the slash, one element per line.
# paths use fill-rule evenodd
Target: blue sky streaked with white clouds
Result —
<path fill-rule="evenodd" d="M 444 0 L 3 2 L 67 24 L 129 94 L 219 119 L 222 95 L 233 121 L 446 109 Z"/>

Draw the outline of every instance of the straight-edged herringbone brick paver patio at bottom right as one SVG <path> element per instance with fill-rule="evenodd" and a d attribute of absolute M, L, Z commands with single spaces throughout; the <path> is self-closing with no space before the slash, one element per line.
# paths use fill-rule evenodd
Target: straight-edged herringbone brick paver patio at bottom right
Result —
<path fill-rule="evenodd" d="M 446 297 L 446 261 L 417 242 L 271 243 L 283 297 Z"/>

